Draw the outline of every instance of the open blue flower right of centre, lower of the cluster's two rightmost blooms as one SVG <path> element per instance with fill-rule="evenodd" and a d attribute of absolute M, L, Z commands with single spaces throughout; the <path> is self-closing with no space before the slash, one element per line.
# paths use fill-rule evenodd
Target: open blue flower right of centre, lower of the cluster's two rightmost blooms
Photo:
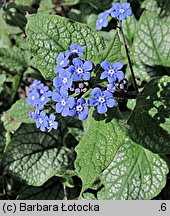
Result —
<path fill-rule="evenodd" d="M 114 107 L 116 101 L 113 99 L 113 94 L 107 90 L 102 91 L 100 88 L 96 87 L 91 92 L 92 98 L 89 98 L 89 106 L 97 106 L 97 112 L 104 114 L 107 112 L 107 107 Z"/>

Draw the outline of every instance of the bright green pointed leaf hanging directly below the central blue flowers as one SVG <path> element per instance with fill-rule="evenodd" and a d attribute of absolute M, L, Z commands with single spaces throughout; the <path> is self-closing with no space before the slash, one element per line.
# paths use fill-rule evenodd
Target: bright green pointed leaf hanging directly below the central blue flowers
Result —
<path fill-rule="evenodd" d="M 91 110 L 86 120 L 83 138 L 76 147 L 75 167 L 83 181 L 83 189 L 90 187 L 98 175 L 113 160 L 119 148 L 124 131 L 119 125 L 117 111 L 112 111 L 113 118 L 104 118 Z"/>

